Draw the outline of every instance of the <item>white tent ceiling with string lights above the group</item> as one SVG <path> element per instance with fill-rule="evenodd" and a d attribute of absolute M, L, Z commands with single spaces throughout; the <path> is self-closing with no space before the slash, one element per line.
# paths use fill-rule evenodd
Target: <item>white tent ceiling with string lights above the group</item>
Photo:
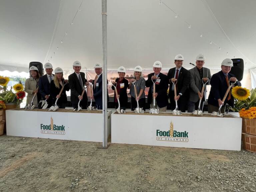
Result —
<path fill-rule="evenodd" d="M 156 60 L 171 68 L 178 53 L 186 68 L 199 53 L 212 69 L 234 57 L 244 59 L 245 68 L 256 67 L 255 0 L 159 3 L 108 0 L 109 69 L 152 68 Z M 29 62 L 48 60 L 64 70 L 75 60 L 91 68 L 102 61 L 101 25 L 101 0 L 0 0 L 0 70 L 27 71 Z"/>

